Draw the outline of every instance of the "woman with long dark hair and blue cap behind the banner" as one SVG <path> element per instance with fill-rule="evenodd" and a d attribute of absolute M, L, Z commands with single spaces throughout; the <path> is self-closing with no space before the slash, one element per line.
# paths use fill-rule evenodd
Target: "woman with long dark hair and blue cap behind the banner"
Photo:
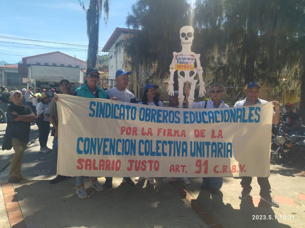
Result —
<path fill-rule="evenodd" d="M 163 107 L 163 103 L 156 98 L 157 88 L 159 88 L 159 86 L 152 85 L 151 83 L 146 84 L 144 87 L 144 94 L 142 97 L 142 101 L 139 102 L 139 104 Z M 144 179 L 146 179 L 146 177 L 136 177 L 135 181 L 142 181 Z M 155 178 L 152 177 L 147 177 L 147 182 L 149 182 L 152 185 L 156 184 Z"/>

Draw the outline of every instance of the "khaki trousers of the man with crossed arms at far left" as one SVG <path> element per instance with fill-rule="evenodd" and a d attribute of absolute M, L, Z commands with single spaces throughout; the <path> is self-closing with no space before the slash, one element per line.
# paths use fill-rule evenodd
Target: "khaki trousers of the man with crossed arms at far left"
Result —
<path fill-rule="evenodd" d="M 15 150 L 15 154 L 11 160 L 11 169 L 9 171 L 9 178 L 21 177 L 21 174 L 20 174 L 21 162 L 22 162 L 24 151 L 27 148 L 27 143 L 25 143 L 19 139 L 13 138 L 12 146 L 13 146 L 13 149 Z"/>

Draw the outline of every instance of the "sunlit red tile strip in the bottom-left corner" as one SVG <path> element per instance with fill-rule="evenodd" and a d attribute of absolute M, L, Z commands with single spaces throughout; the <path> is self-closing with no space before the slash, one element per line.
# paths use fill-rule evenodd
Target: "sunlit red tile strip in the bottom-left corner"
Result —
<path fill-rule="evenodd" d="M 9 216 L 9 223 L 13 228 L 26 228 L 23 215 L 16 197 L 15 189 L 12 183 L 1 185 L 4 196 L 6 212 Z"/>

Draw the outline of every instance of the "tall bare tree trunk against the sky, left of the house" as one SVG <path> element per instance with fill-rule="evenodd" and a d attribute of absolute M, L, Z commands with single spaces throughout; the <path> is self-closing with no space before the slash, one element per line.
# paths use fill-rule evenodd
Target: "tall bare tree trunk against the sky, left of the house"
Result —
<path fill-rule="evenodd" d="M 90 0 L 87 11 L 87 33 L 89 38 L 87 68 L 96 67 L 99 48 L 98 0 Z"/>

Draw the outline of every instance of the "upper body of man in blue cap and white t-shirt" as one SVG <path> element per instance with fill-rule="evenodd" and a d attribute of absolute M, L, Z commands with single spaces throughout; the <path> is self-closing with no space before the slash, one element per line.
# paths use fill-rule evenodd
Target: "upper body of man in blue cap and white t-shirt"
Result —
<path fill-rule="evenodd" d="M 117 71 L 115 74 L 116 87 L 106 90 L 109 98 L 115 97 L 118 101 L 137 103 L 135 95 L 126 88 L 129 83 L 130 74 L 131 71 L 124 71 L 123 69 Z"/>

